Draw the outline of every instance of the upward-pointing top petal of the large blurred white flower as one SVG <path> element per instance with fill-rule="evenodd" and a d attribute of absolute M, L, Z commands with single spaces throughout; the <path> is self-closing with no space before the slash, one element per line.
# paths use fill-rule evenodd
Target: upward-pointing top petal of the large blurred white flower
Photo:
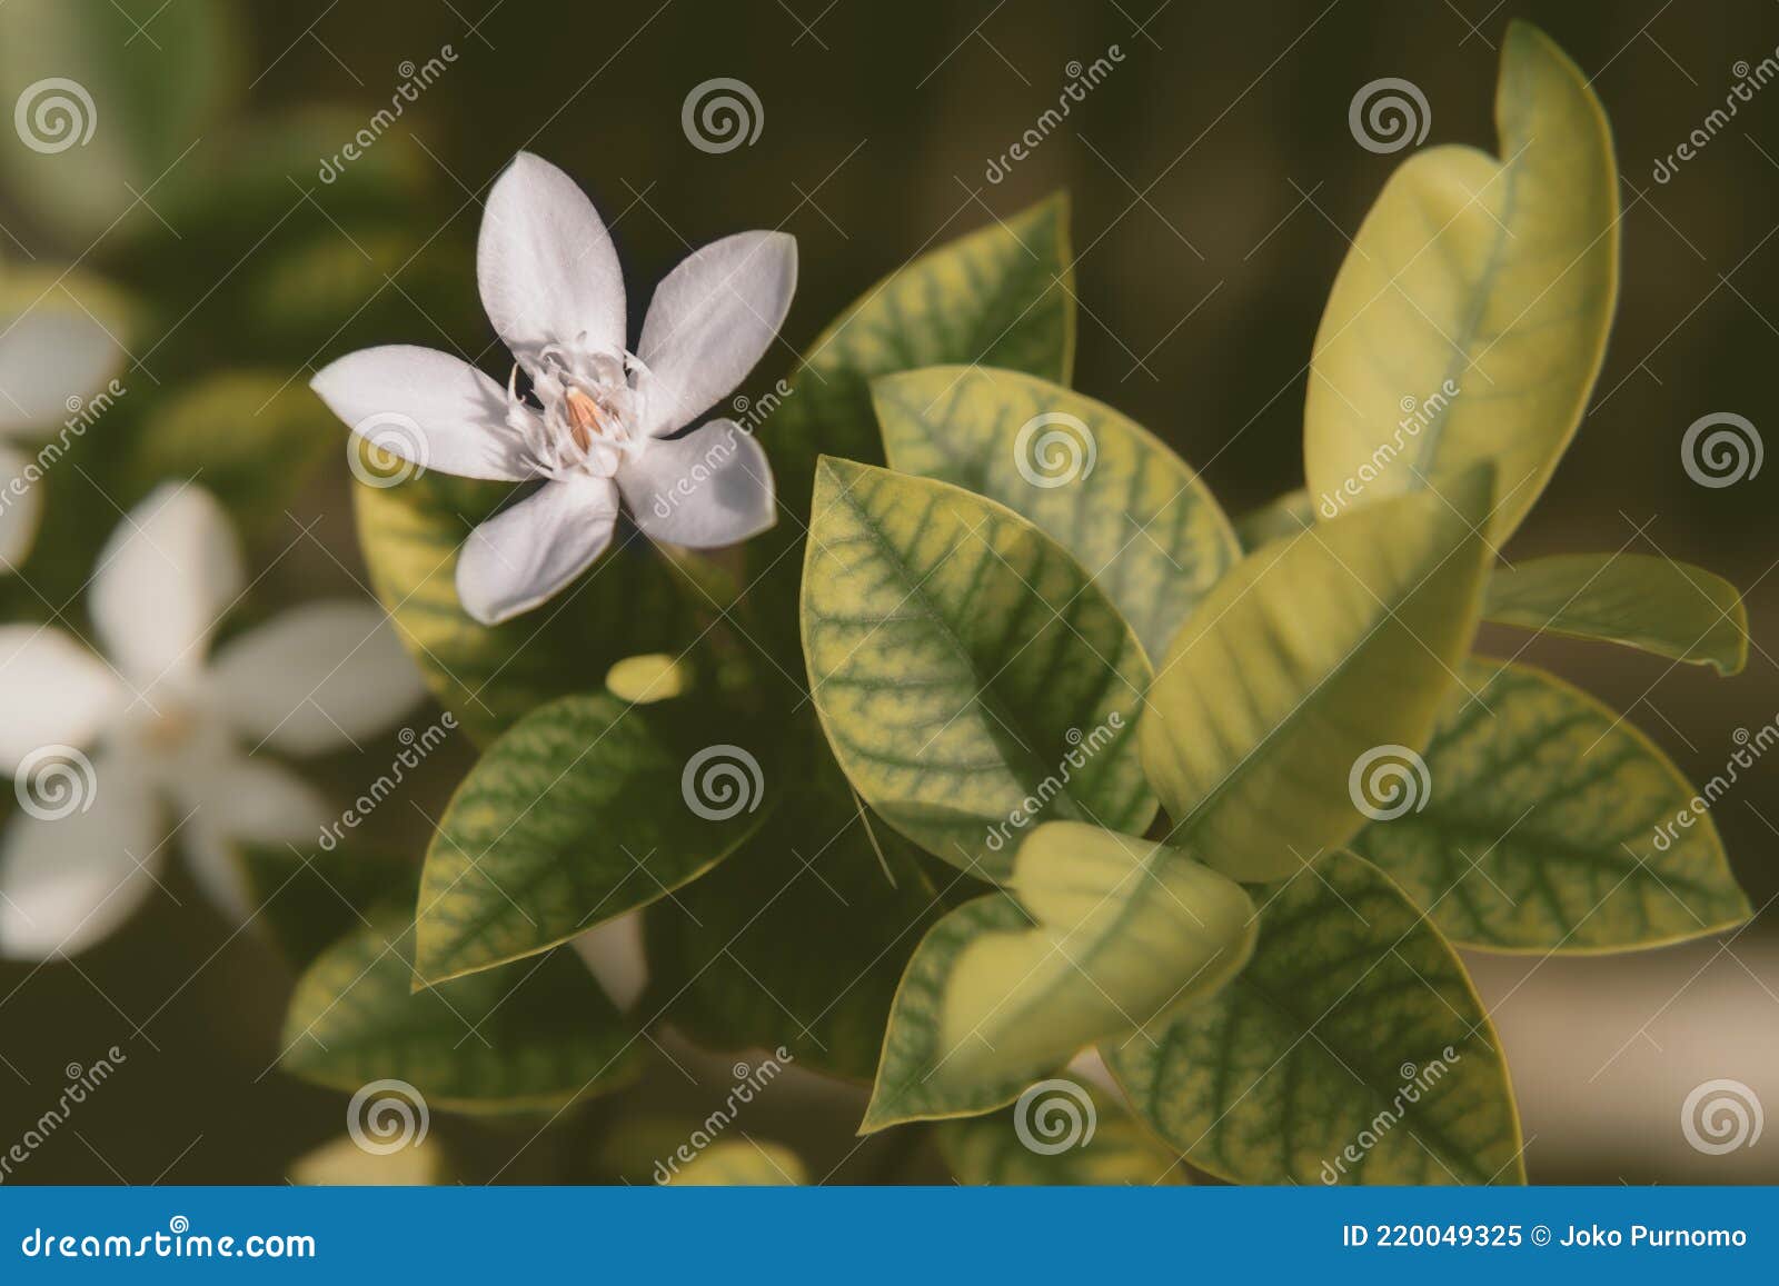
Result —
<path fill-rule="evenodd" d="M 93 626 L 125 678 L 194 674 L 246 573 L 228 514 L 189 484 L 155 489 L 112 532 L 93 573 Z"/>

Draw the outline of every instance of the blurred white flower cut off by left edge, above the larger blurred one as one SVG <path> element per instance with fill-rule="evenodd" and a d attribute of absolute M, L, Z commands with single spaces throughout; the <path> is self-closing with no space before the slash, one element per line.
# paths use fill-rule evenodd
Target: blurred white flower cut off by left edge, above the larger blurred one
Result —
<path fill-rule="evenodd" d="M 14 293 L 28 288 L 14 286 Z M 30 448 L 68 423 L 123 365 L 123 349 L 93 317 L 52 290 L 18 308 L 0 304 L 0 573 L 14 571 L 37 535 L 43 493 Z"/>

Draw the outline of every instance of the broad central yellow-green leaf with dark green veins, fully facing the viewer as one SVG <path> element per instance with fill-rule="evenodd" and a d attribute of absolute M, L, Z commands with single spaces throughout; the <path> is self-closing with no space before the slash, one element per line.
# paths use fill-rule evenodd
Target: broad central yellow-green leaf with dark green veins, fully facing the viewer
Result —
<path fill-rule="evenodd" d="M 1062 546 L 961 487 L 824 459 L 809 690 L 847 777 L 929 852 L 1005 873 L 1035 818 L 1140 834 L 1149 663 Z"/>

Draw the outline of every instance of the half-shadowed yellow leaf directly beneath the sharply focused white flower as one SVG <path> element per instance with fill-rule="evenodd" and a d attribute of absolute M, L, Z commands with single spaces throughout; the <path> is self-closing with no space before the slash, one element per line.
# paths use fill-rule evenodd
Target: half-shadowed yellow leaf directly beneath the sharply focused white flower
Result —
<path fill-rule="evenodd" d="M 354 436 L 347 450 L 365 477 L 379 475 L 375 448 Z M 612 548 L 548 605 L 484 626 L 457 601 L 457 551 L 512 487 L 423 473 L 352 491 L 377 599 L 427 687 L 484 745 L 543 703 L 594 687 L 624 656 L 678 655 L 697 635 L 694 603 L 703 599 L 626 519 Z"/>

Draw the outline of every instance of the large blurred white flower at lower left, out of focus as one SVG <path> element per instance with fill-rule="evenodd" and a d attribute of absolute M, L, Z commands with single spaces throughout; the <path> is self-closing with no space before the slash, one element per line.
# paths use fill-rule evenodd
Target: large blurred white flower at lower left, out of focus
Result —
<path fill-rule="evenodd" d="M 329 809 L 242 743 L 331 749 L 422 695 L 372 603 L 304 605 L 210 656 L 244 583 L 221 505 L 165 486 L 125 518 L 93 575 L 105 658 L 62 630 L 0 626 L 0 772 L 18 776 L 20 793 L 0 832 L 0 955 L 71 955 L 128 918 L 167 847 L 162 802 L 199 884 L 246 918 L 231 841 L 313 843 Z M 27 806 L 46 751 L 76 756 L 76 772 L 60 793 L 46 790 L 53 808 Z"/>

